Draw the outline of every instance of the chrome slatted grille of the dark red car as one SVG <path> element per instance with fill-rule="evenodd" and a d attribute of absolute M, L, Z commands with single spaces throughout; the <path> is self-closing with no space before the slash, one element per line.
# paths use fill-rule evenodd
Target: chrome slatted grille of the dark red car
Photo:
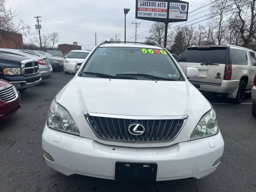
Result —
<path fill-rule="evenodd" d="M 17 97 L 18 94 L 11 84 L 4 87 L 0 87 L 0 100 L 4 102 L 11 102 L 15 100 Z"/>

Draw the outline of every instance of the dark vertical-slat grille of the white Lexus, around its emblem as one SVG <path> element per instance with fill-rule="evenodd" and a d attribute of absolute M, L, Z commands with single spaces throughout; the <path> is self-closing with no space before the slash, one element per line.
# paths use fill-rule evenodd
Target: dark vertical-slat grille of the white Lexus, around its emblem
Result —
<path fill-rule="evenodd" d="M 86 115 L 85 115 L 86 116 Z M 175 139 L 186 122 L 187 116 L 180 119 L 124 119 L 101 116 L 86 116 L 94 133 L 101 139 L 128 142 L 159 142 Z M 164 117 L 166 118 L 166 117 Z M 129 132 L 129 126 L 140 124 L 145 128 L 141 135 Z"/>

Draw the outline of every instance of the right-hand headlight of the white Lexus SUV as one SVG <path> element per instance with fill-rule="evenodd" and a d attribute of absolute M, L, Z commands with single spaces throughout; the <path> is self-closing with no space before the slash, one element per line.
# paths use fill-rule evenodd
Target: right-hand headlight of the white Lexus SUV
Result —
<path fill-rule="evenodd" d="M 200 119 L 199 123 L 190 136 L 190 140 L 201 139 L 216 135 L 219 132 L 216 112 L 212 108 Z"/>

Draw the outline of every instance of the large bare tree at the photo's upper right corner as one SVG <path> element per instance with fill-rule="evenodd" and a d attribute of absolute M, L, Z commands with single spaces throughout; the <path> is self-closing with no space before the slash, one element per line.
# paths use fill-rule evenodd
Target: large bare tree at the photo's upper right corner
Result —
<path fill-rule="evenodd" d="M 256 38 L 256 0 L 233 0 L 236 8 L 231 14 L 232 28 L 240 32 L 242 46 L 250 47 L 252 40 Z"/>

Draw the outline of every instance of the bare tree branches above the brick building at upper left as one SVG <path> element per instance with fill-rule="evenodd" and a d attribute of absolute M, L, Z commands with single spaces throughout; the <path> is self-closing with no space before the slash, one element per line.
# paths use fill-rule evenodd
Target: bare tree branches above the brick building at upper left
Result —
<path fill-rule="evenodd" d="M 18 25 L 13 23 L 13 18 L 17 16 L 11 9 L 6 8 L 8 0 L 0 0 L 0 34 L 2 38 L 11 38 L 10 34 L 22 33 L 27 35 L 30 27 L 20 19 Z"/>

